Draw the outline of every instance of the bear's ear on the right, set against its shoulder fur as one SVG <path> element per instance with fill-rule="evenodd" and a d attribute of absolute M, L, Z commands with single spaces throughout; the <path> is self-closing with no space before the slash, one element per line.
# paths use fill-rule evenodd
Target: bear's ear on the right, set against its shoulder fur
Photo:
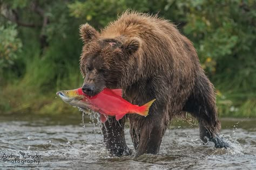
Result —
<path fill-rule="evenodd" d="M 142 44 L 141 40 L 139 38 L 131 38 L 127 40 L 122 46 L 122 50 L 125 53 L 133 54 L 136 51 L 138 51 L 140 45 Z"/>

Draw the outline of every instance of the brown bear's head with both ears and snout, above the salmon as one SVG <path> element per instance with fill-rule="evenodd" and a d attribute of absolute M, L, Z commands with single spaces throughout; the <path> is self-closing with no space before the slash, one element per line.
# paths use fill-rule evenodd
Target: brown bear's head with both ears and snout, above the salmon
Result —
<path fill-rule="evenodd" d="M 141 41 L 136 37 L 102 36 L 89 24 L 80 26 L 84 42 L 80 71 L 84 77 L 83 91 L 93 96 L 107 88 L 123 88 L 136 65 L 134 57 Z"/>

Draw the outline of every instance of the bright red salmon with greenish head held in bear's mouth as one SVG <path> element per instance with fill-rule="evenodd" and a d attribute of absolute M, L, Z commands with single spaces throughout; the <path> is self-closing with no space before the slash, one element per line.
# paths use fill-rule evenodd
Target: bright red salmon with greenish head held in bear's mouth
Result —
<path fill-rule="evenodd" d="M 147 116 L 149 108 L 156 100 L 152 100 L 142 106 L 131 104 L 122 98 L 122 89 L 104 88 L 95 96 L 83 93 L 82 88 L 63 90 L 56 93 L 62 100 L 70 105 L 82 109 L 90 109 L 100 113 L 100 121 L 105 123 L 107 116 L 116 116 L 117 121 L 126 114 L 139 114 Z"/>

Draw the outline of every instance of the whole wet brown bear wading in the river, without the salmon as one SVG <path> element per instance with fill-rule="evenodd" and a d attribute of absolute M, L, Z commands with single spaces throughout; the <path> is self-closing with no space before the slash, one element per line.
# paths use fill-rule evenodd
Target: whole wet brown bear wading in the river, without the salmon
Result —
<path fill-rule="evenodd" d="M 219 138 L 213 84 L 201 68 L 196 49 L 169 20 L 126 11 L 100 32 L 80 26 L 84 42 L 80 70 L 83 91 L 96 95 L 105 87 L 123 89 L 123 97 L 143 105 L 156 98 L 147 117 L 114 117 L 102 126 L 106 148 L 112 155 L 130 154 L 125 143 L 125 119 L 136 157 L 157 154 L 169 122 L 184 112 L 199 121 L 200 138 L 215 147 L 228 145 Z"/>

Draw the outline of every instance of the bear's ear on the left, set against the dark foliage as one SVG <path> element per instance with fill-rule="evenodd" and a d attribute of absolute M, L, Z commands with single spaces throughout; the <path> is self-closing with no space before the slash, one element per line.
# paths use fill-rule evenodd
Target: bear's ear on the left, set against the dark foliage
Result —
<path fill-rule="evenodd" d="M 80 25 L 79 32 L 85 44 L 91 41 L 93 38 L 97 38 L 99 36 L 99 32 L 96 31 L 91 25 L 87 23 Z"/>

